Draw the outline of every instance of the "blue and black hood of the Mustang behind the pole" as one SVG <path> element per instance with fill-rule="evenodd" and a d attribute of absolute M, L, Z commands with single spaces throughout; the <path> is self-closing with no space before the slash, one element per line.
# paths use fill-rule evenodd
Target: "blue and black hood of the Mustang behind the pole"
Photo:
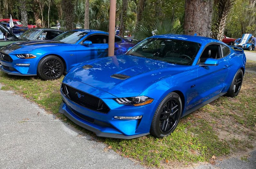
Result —
<path fill-rule="evenodd" d="M 43 47 L 51 47 L 51 46 L 63 46 L 67 45 L 67 43 L 62 43 L 59 41 L 25 41 L 25 42 L 17 42 L 12 43 L 7 46 L 5 46 L 4 50 L 6 53 L 14 52 L 16 54 L 20 53 L 28 53 L 34 49 L 37 48 L 43 48 Z"/>

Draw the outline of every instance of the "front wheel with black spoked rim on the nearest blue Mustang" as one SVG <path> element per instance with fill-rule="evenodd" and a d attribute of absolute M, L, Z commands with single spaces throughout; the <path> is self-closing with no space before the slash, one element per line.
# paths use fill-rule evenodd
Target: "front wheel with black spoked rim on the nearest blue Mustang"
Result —
<path fill-rule="evenodd" d="M 177 127 L 182 111 L 180 96 L 171 92 L 157 106 L 151 122 L 150 134 L 163 138 L 170 135 Z"/>

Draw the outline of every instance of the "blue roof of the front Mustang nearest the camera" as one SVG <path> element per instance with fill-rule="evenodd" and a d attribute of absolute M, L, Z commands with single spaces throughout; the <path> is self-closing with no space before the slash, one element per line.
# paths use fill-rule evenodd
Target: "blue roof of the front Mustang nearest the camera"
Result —
<path fill-rule="evenodd" d="M 191 42 L 197 42 L 200 44 L 208 43 L 208 42 L 218 42 L 219 40 L 212 39 L 204 36 L 193 36 L 193 35 L 177 35 L 177 34 L 165 34 L 165 35 L 154 35 L 149 38 L 167 38 L 167 39 L 177 39 L 177 40 L 186 40 Z"/>

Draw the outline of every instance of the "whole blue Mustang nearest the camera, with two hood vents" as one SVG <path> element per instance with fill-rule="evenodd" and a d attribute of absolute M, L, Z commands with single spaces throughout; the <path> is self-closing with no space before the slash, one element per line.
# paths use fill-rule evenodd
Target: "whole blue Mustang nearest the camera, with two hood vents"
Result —
<path fill-rule="evenodd" d="M 97 136 L 163 138 L 181 117 L 238 95 L 246 63 L 239 49 L 201 36 L 152 36 L 123 55 L 74 67 L 62 81 L 59 112 Z"/>

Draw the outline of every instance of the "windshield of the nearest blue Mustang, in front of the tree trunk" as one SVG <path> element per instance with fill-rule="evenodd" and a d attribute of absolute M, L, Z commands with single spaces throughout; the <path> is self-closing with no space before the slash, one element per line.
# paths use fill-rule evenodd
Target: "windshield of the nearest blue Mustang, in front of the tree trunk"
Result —
<path fill-rule="evenodd" d="M 140 42 L 126 55 L 162 60 L 178 65 L 192 65 L 201 44 L 177 39 L 150 38 Z"/>

